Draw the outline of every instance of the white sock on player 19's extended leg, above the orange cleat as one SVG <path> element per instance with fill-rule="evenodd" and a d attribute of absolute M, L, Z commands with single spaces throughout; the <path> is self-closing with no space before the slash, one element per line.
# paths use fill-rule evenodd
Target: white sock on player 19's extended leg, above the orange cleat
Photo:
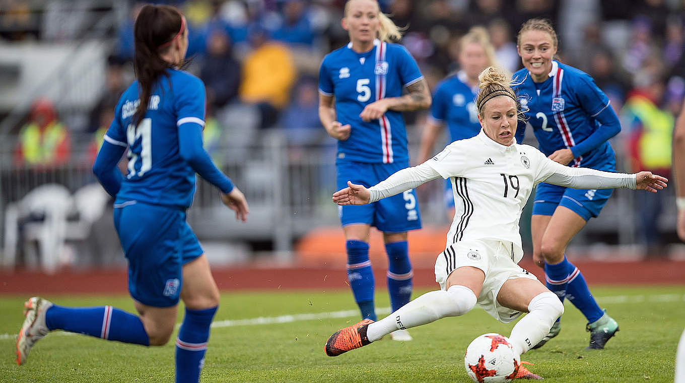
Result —
<path fill-rule="evenodd" d="M 425 325 L 444 317 L 457 317 L 469 312 L 476 300 L 473 291 L 465 286 L 454 285 L 447 291 L 431 291 L 371 323 L 366 328 L 366 336 L 373 342 L 395 330 Z"/>

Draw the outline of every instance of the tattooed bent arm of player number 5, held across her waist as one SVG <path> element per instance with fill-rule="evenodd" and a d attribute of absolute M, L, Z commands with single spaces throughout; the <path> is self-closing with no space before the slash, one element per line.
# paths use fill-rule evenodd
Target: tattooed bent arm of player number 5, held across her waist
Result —
<path fill-rule="evenodd" d="M 364 107 L 359 116 L 368 122 L 381 118 L 387 110 L 408 112 L 430 107 L 431 95 L 425 79 L 422 78 L 407 86 L 407 90 L 409 93 L 401 97 L 388 97 L 370 103 Z"/>

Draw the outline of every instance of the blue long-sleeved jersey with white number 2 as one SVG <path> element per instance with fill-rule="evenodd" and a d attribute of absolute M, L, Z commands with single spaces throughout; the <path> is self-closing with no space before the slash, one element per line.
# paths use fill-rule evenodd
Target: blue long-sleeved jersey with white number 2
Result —
<path fill-rule="evenodd" d="M 613 166 L 614 150 L 607 140 L 621 127 L 608 97 L 592 77 L 553 61 L 545 82 L 534 83 L 527 69 L 521 69 L 514 73 L 513 83 L 520 83 L 513 88 L 545 156 L 570 148 L 575 159 L 569 166 L 603 170 Z M 607 124 L 601 124 L 601 119 Z M 516 132 L 519 142 L 524 132 L 525 123 L 519 123 Z"/>

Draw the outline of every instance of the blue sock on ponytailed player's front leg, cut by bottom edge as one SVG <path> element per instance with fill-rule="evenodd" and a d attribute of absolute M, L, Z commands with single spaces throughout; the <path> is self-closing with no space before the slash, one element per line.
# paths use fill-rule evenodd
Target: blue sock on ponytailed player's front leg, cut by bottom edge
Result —
<path fill-rule="evenodd" d="M 176 383 L 197 383 L 205 364 L 210 325 L 219 306 L 205 310 L 186 308 L 186 317 L 181 323 L 176 339 Z"/>

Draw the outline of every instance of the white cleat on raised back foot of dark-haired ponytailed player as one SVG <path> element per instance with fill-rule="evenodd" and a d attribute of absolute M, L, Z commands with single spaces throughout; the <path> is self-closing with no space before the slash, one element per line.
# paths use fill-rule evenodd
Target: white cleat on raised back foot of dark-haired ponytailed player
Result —
<path fill-rule="evenodd" d="M 47 299 L 32 297 L 24 302 L 24 324 L 16 338 L 16 364 L 23 365 L 36 341 L 46 336 L 50 330 L 45 325 L 45 312 L 52 304 Z"/>

